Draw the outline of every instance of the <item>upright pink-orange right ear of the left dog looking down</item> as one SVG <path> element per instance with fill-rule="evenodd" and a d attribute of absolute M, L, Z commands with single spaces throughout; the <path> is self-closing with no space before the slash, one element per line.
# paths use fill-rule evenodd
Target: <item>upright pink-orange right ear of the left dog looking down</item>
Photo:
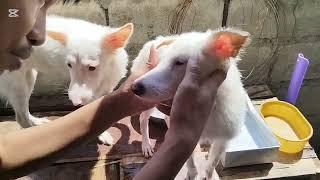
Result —
<path fill-rule="evenodd" d="M 102 47 L 109 50 L 116 50 L 124 47 L 133 32 L 133 24 L 128 23 L 119 28 L 116 32 L 108 34 L 102 42 Z"/>

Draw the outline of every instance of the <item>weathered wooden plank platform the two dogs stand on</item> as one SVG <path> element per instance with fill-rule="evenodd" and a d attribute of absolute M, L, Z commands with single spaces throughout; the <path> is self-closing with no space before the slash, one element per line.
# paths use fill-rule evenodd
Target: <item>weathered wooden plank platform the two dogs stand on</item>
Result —
<path fill-rule="evenodd" d="M 268 90 L 267 86 L 259 86 L 256 88 L 249 87 L 247 90 L 251 97 L 260 99 L 255 101 L 256 108 L 259 108 L 259 105 L 266 101 L 265 98 L 272 97 L 272 93 Z M 33 97 L 32 102 L 38 104 L 41 111 L 53 109 L 50 112 L 35 113 L 40 117 L 62 116 L 67 113 L 61 111 L 64 110 L 63 106 L 66 107 L 66 110 L 71 110 L 73 108 L 65 100 L 63 102 L 49 101 L 48 104 L 48 101 L 45 101 L 43 98 Z M 54 103 L 58 103 L 60 107 L 57 108 Z M 31 106 L 33 107 L 33 110 L 37 110 L 35 105 Z M 2 111 L 1 107 L 0 111 Z M 10 109 L 7 113 L 10 114 Z M 54 118 L 56 117 L 52 117 L 52 119 Z M 0 116 L 0 135 L 17 129 L 19 129 L 19 126 L 14 121 L 13 116 Z M 74 149 L 50 167 L 19 179 L 132 179 L 147 162 L 147 159 L 141 154 L 141 135 L 138 117 L 127 117 L 122 119 L 108 131 L 112 134 L 116 142 L 114 146 L 105 146 L 98 144 L 97 141 L 92 141 Z M 159 147 L 163 141 L 165 132 L 166 126 L 164 122 L 157 119 L 150 122 L 150 137 L 153 139 L 152 143 L 156 143 L 156 148 Z M 204 158 L 205 154 L 206 152 L 202 152 L 199 148 L 197 149 L 196 163 L 200 164 L 201 169 L 203 169 L 206 164 L 204 163 L 206 161 Z M 217 170 L 218 173 L 215 173 L 217 179 L 278 179 L 282 177 L 320 179 L 320 162 L 309 144 L 305 147 L 303 153 L 295 156 L 288 157 L 287 155 L 279 153 L 277 162 L 272 164 L 229 169 L 223 169 L 219 166 Z M 185 173 L 186 168 L 183 167 L 176 179 L 183 179 Z"/>

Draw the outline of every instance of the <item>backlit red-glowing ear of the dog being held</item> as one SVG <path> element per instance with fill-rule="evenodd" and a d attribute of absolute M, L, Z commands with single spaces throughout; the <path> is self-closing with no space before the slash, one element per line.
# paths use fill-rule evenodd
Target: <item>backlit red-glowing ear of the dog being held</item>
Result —
<path fill-rule="evenodd" d="M 205 53 L 220 60 L 236 57 L 240 49 L 246 44 L 249 33 L 218 32 L 209 40 Z"/>

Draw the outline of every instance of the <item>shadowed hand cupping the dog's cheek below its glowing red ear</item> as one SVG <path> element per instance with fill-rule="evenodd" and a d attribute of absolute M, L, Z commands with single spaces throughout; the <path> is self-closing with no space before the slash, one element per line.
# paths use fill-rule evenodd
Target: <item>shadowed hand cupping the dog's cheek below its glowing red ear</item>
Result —
<path fill-rule="evenodd" d="M 170 129 L 175 135 L 198 141 L 214 106 L 217 90 L 226 73 L 217 70 L 201 77 L 200 58 L 188 61 L 186 74 L 172 102 Z M 162 107 L 163 108 L 163 107 Z M 167 110 L 170 106 L 167 106 Z"/>

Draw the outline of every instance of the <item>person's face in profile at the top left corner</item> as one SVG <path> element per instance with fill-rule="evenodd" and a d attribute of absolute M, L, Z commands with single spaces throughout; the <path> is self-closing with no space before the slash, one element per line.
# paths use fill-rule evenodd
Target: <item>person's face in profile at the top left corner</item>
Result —
<path fill-rule="evenodd" d="M 46 11 L 56 0 L 0 1 L 0 74 L 15 70 L 45 41 Z"/>

